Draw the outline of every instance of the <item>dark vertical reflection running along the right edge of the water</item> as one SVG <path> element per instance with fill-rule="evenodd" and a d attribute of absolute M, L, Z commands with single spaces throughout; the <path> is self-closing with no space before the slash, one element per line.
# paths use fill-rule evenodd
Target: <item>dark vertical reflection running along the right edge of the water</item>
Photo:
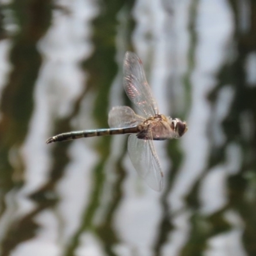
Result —
<path fill-rule="evenodd" d="M 248 84 L 246 80 L 246 59 L 249 54 L 256 52 L 256 3 L 254 0 L 247 1 L 248 15 L 241 15 L 239 2 L 230 0 L 236 20 L 234 40 L 237 44 L 237 58 L 223 67 L 220 76 L 228 79 L 236 88 L 236 96 L 232 110 L 227 116 L 223 127 L 227 134 L 228 142 L 239 143 L 243 150 L 243 162 L 239 173 L 228 179 L 229 207 L 239 212 L 244 221 L 243 244 L 248 255 L 256 255 L 255 230 L 256 230 L 256 196 L 248 198 L 248 191 L 255 184 L 256 175 L 256 83 Z M 241 29 L 241 22 L 248 20 L 248 28 Z M 240 26 L 239 26 L 240 25 Z M 232 76 L 228 76 L 232 72 Z M 221 84 L 220 84 L 221 86 Z M 254 131 L 250 138 L 244 138 L 241 117 L 244 113 L 252 115 Z"/>

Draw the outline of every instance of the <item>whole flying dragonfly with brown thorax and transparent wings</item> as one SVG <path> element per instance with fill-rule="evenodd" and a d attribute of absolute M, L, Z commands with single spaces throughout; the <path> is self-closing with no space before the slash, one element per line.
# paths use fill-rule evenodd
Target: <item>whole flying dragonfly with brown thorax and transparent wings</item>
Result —
<path fill-rule="evenodd" d="M 159 114 L 142 62 L 134 52 L 129 51 L 125 53 L 124 58 L 124 90 L 141 115 L 136 114 L 128 106 L 116 106 L 109 111 L 110 129 L 65 132 L 49 138 L 46 143 L 130 134 L 127 149 L 132 165 L 150 188 L 161 191 L 163 172 L 153 141 L 180 138 L 188 131 L 188 125 L 179 118 Z"/>

